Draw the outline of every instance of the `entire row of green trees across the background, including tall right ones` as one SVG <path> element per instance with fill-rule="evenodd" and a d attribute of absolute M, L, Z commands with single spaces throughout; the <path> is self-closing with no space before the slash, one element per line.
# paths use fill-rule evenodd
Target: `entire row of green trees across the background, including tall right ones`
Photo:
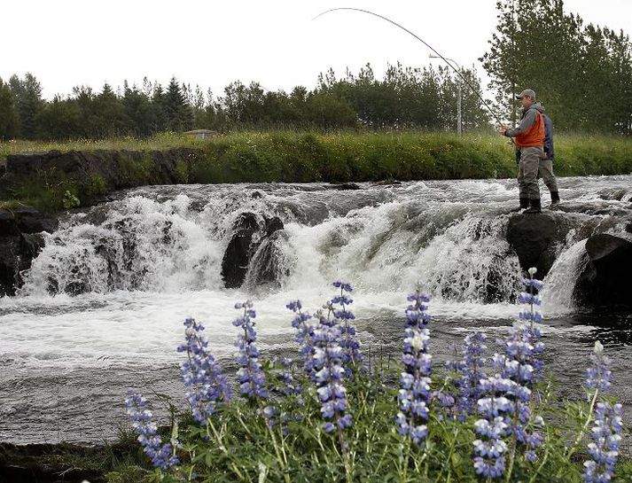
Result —
<path fill-rule="evenodd" d="M 632 44 L 623 31 L 586 24 L 563 0 L 498 0 L 498 22 L 480 58 L 491 77 L 495 110 L 515 123 L 514 94 L 534 89 L 558 130 L 632 134 Z M 87 86 L 51 101 L 33 74 L 0 79 L 0 139 L 152 136 L 189 129 L 429 129 L 456 130 L 463 87 L 464 130 L 489 128 L 476 70 L 390 65 L 376 78 L 367 64 L 341 78 L 330 69 L 316 88 L 266 90 L 231 82 L 222 96 L 178 82 L 144 79 L 96 92 Z"/>

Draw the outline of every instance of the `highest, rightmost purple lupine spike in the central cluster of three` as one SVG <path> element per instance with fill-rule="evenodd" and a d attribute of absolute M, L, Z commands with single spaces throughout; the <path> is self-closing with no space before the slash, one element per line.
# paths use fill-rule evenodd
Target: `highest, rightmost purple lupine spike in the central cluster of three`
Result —
<path fill-rule="evenodd" d="M 355 320 L 354 313 L 349 309 L 349 305 L 354 303 L 347 293 L 353 292 L 351 284 L 346 282 L 333 282 L 334 287 L 340 289 L 340 295 L 330 300 L 328 308 L 332 311 L 332 315 L 339 323 L 340 327 L 340 347 L 342 347 L 345 371 L 347 376 L 352 376 L 353 371 L 363 362 L 360 353 L 360 341 L 357 338 L 357 331 L 350 321 Z"/>

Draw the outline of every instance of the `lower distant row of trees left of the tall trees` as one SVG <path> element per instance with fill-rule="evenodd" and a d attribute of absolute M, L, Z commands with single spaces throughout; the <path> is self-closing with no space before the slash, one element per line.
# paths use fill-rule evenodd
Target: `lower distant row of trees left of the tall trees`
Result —
<path fill-rule="evenodd" d="M 462 74 L 480 89 L 473 69 Z M 457 82 L 447 67 L 388 66 L 377 79 L 371 65 L 338 79 L 330 69 L 314 90 L 265 90 L 259 82 L 231 82 L 221 97 L 177 81 L 100 92 L 78 86 L 66 97 L 42 97 L 33 74 L 0 79 L 0 138 L 51 139 L 151 136 L 189 129 L 456 129 Z M 463 97 L 464 129 L 488 125 L 475 97 Z"/>

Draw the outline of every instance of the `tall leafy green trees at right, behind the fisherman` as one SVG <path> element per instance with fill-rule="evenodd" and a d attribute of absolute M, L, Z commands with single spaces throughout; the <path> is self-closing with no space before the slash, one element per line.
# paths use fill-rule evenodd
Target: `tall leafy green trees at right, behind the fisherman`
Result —
<path fill-rule="evenodd" d="M 499 0 L 480 58 L 496 105 L 515 121 L 512 95 L 535 90 L 558 129 L 632 134 L 629 35 L 584 22 L 563 0 Z"/>

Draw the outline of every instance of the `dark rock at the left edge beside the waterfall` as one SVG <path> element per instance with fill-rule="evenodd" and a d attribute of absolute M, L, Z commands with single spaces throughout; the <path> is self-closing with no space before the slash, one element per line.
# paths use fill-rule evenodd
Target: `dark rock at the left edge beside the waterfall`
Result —
<path fill-rule="evenodd" d="M 30 206 L 16 210 L 0 210 L 0 296 L 15 295 L 23 283 L 21 272 L 43 248 L 44 238 L 38 232 L 53 230 L 56 221 Z"/>

